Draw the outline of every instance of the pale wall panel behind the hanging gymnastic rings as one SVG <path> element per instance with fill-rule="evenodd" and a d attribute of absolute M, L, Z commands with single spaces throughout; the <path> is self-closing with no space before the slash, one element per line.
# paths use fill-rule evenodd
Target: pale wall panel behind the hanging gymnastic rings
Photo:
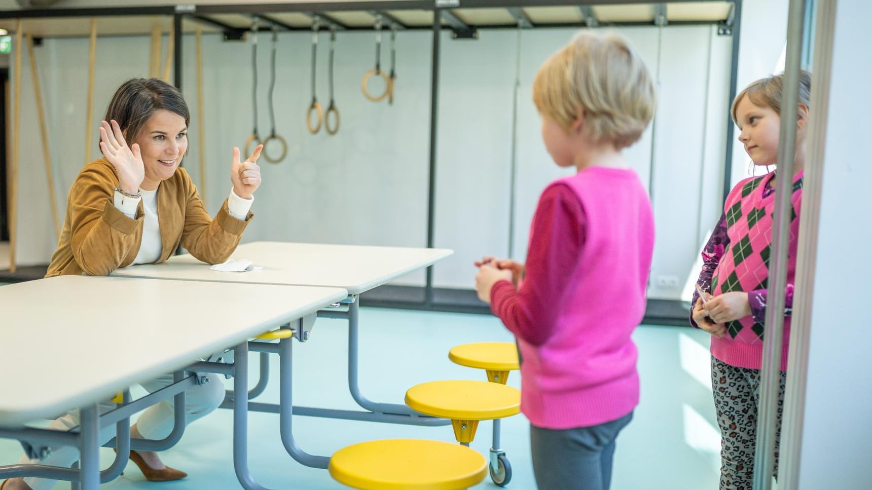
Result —
<path fill-rule="evenodd" d="M 373 103 L 360 92 L 364 72 L 375 64 L 374 35 L 337 35 L 335 98 L 342 124 L 333 136 L 324 128 L 312 135 L 305 126 L 311 101 L 310 40 L 308 33 L 279 37 L 276 132 L 288 140 L 289 151 L 276 165 L 261 160 L 264 183 L 256 194 L 257 216 L 244 241 L 425 246 L 430 67 L 419 53 L 430 50 L 428 33 L 398 35 L 393 105 L 386 100 Z M 265 137 L 269 134 L 269 37 L 260 37 L 259 46 L 258 130 Z M 328 35 L 323 32 L 317 52 L 316 93 L 324 110 L 330 103 L 328 46 Z M 385 70 L 388 47 L 383 43 Z M 187 59 L 193 59 L 190 48 Z M 208 203 L 215 209 L 229 191 L 230 148 L 242 146 L 251 133 L 251 48 L 213 36 L 204 38 L 203 50 L 210 60 L 204 64 L 209 101 L 205 106 Z M 194 100 L 193 70 L 186 73 L 183 85 L 187 99 Z M 371 86 L 375 91 L 374 82 Z M 416 276 L 416 283 L 423 278 Z"/>

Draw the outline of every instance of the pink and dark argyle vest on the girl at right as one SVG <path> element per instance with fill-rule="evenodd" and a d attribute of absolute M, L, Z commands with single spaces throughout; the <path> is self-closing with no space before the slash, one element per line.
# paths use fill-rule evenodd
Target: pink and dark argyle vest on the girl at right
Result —
<path fill-rule="evenodd" d="M 769 256 L 772 249 L 773 211 L 775 193 L 770 181 L 774 172 L 761 177 L 742 180 L 733 187 L 724 204 L 726 234 L 729 238 L 723 255 L 712 276 L 712 294 L 727 291 L 745 291 L 749 300 L 762 301 L 769 279 Z M 779 186 L 784 185 L 779 182 Z M 781 188 L 781 187 L 779 187 Z M 790 221 L 790 243 L 787 253 L 787 291 L 792 296 L 796 269 L 796 239 L 800 226 L 802 198 L 802 172 L 791 183 L 793 209 Z M 791 298 L 792 299 L 792 298 Z M 792 303 L 792 302 L 790 302 Z M 755 306 L 752 304 L 752 306 Z M 753 308 L 752 310 L 760 310 Z M 726 324 L 728 335 L 712 337 L 712 356 L 726 364 L 760 369 L 763 357 L 763 318 L 750 315 Z M 790 316 L 784 319 L 784 339 L 781 352 L 781 370 L 787 369 L 787 344 L 790 342 Z"/>

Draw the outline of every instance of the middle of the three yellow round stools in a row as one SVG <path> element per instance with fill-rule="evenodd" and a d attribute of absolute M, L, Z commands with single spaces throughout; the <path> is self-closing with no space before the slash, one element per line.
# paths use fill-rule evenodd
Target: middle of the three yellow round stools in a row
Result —
<path fill-rule="evenodd" d="M 425 415 L 451 419 L 454 438 L 464 446 L 475 438 L 480 420 L 497 420 L 521 412 L 521 391 L 499 383 L 472 380 L 432 381 L 405 392 L 405 405 Z M 498 425 L 494 425 L 498 427 Z M 491 479 L 500 487 L 512 480 L 512 466 L 499 449 L 499 430 L 494 430 L 490 451 Z"/>

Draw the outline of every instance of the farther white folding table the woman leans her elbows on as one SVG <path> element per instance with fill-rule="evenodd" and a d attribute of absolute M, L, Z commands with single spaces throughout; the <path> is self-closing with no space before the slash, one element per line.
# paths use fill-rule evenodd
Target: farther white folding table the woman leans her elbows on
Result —
<path fill-rule="evenodd" d="M 242 273 L 219 272 L 210 270 L 207 264 L 198 261 L 191 255 L 176 255 L 167 262 L 160 264 L 138 265 L 125 269 L 116 269 L 113 276 L 130 276 L 153 279 L 175 279 L 185 281 L 258 283 L 272 285 L 304 285 L 318 287 L 337 287 L 346 289 L 349 293 L 345 300 L 347 311 L 327 310 L 319 312 L 319 316 L 347 318 L 349 322 L 348 336 L 348 382 L 351 396 L 366 412 L 332 410 L 314 407 L 293 406 L 291 397 L 291 342 L 282 341 L 278 349 L 274 346 L 263 346 L 262 352 L 277 352 L 280 361 L 280 401 L 275 404 L 245 403 L 250 398 L 260 394 L 265 383 L 258 383 L 255 390 L 248 391 L 247 378 L 242 372 L 248 370 L 248 345 L 240 345 L 235 351 L 234 383 L 235 392 L 228 393 L 233 398 L 235 424 L 243 424 L 241 419 L 246 409 L 256 412 L 278 412 L 283 444 L 290 455 L 306 466 L 326 468 L 330 459 L 303 452 L 296 445 L 292 433 L 291 413 L 313 417 L 333 419 L 355 419 L 376 422 L 388 422 L 411 425 L 449 425 L 445 419 L 434 419 L 419 415 L 409 407 L 399 404 L 377 403 L 365 398 L 358 385 L 358 296 L 385 282 L 399 276 L 405 276 L 415 270 L 424 269 L 441 259 L 453 254 L 453 250 L 444 248 L 402 248 L 402 247 L 369 247 L 358 245 L 328 245 L 315 243 L 292 242 L 251 242 L 240 245 L 232 259 L 249 259 L 262 270 L 252 270 Z M 297 340 L 307 339 L 306 329 L 296 333 Z M 265 356 L 265 354 L 262 354 Z M 262 357 L 262 375 L 265 361 Z M 262 377 L 263 381 L 263 377 Z M 225 402 L 229 407 L 230 402 Z M 235 429 L 235 433 L 238 432 Z M 242 450 L 234 445 L 235 450 Z M 242 487 L 248 490 L 262 490 L 252 479 L 248 471 L 245 454 L 235 453 L 236 474 Z"/>

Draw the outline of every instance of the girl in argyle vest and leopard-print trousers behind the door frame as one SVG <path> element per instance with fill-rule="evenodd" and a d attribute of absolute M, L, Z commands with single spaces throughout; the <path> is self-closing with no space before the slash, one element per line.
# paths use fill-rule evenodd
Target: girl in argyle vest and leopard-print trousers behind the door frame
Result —
<path fill-rule="evenodd" d="M 778 155 L 783 79 L 783 74 L 761 78 L 732 102 L 732 120 L 741 130 L 739 141 L 755 166 L 774 165 Z M 810 89 L 811 76 L 803 71 L 794 174 L 777 175 L 776 170 L 739 181 L 727 196 L 724 214 L 703 250 L 703 269 L 697 284 L 707 297 L 694 293 L 691 324 L 712 334 L 712 391 L 721 431 L 721 489 L 751 490 L 752 486 L 776 186 L 791 192 L 793 202 L 773 474 L 778 473 Z"/>

